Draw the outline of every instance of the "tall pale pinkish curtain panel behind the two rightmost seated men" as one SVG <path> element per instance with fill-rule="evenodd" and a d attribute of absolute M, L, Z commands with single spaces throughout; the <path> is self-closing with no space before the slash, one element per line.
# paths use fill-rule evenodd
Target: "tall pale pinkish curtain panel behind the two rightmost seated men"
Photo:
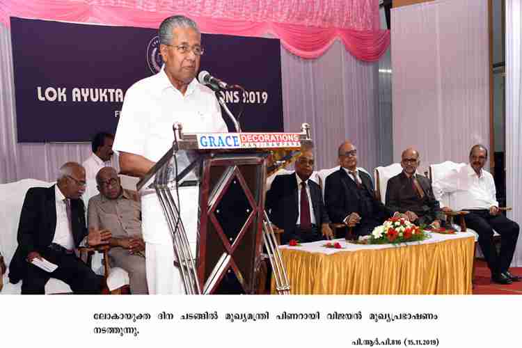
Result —
<path fill-rule="evenodd" d="M 429 164 L 468 161 L 489 147 L 487 0 L 444 0 L 393 8 L 393 159 L 420 150 Z M 491 151 L 492 153 L 492 151 Z"/>

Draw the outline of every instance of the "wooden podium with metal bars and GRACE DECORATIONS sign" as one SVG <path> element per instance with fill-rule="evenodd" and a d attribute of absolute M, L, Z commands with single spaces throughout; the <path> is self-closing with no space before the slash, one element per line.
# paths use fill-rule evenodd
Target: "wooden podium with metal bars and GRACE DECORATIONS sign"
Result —
<path fill-rule="evenodd" d="M 173 147 L 143 177 L 138 189 L 157 193 L 173 237 L 176 266 L 187 294 L 255 294 L 262 259 L 271 262 L 280 294 L 290 290 L 274 233 L 264 212 L 271 151 L 312 146 L 310 127 L 300 133 L 183 134 L 174 126 Z M 284 156 L 283 156 L 284 157 Z M 171 190 L 187 178 L 199 185 L 198 244 L 191 255 Z M 183 204 L 188 204 L 184 202 Z M 264 248 L 263 248 L 264 246 Z M 264 252 L 267 253 L 264 254 Z"/>

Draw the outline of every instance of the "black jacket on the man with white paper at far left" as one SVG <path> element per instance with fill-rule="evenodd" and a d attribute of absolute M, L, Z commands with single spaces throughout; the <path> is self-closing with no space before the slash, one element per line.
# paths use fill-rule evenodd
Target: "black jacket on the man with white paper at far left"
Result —
<path fill-rule="evenodd" d="M 26 258 L 31 251 L 47 248 L 52 243 L 56 230 L 56 198 L 54 187 L 31 187 L 27 191 L 18 223 L 18 247 L 9 265 L 9 280 L 18 283 L 24 277 Z M 79 246 L 87 235 L 84 202 L 71 200 L 71 223 L 74 244 Z"/>

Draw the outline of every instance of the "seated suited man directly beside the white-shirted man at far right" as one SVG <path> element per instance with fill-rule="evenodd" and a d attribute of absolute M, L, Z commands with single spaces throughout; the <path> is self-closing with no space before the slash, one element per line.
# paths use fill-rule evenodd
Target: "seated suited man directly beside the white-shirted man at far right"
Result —
<path fill-rule="evenodd" d="M 427 177 L 418 175 L 418 151 L 408 148 L 402 152 L 402 172 L 388 180 L 386 207 L 395 214 L 405 214 L 416 225 L 441 227 L 444 214 L 435 199 L 432 184 Z"/>

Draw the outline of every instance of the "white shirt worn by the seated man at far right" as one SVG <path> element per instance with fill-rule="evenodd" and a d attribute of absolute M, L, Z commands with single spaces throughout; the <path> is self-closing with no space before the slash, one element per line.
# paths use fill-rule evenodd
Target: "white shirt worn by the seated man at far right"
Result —
<path fill-rule="evenodd" d="M 451 193 L 450 208 L 454 210 L 498 207 L 493 175 L 482 169 L 479 176 L 470 164 L 455 169 L 443 181 L 437 180 L 432 186 L 441 207 L 443 193 Z"/>

